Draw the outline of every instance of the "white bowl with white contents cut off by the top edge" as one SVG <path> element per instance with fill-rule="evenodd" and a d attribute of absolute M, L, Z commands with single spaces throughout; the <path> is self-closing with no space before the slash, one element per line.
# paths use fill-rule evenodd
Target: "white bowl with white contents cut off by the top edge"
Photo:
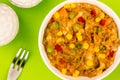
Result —
<path fill-rule="evenodd" d="M 10 2 L 21 8 L 31 8 L 41 2 L 41 0 L 10 0 Z"/>

